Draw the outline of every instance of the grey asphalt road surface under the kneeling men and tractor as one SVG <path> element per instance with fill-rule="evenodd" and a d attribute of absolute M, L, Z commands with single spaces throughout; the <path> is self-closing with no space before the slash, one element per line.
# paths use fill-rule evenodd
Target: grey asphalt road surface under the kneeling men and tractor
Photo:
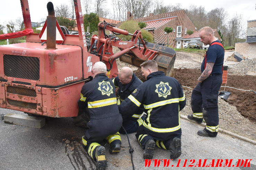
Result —
<path fill-rule="evenodd" d="M 1 109 L 0 113 L 22 112 Z M 219 133 L 216 138 L 200 137 L 196 134 L 202 127 L 186 120 L 182 124 L 182 155 L 179 160 L 174 160 L 169 167 L 164 167 L 163 162 L 159 167 L 144 167 L 142 158 L 143 150 L 136 141 L 135 135 L 129 134 L 131 145 L 134 148 L 133 162 L 135 169 L 224 169 L 220 167 L 195 167 L 199 159 L 208 159 L 206 165 L 212 159 L 233 159 L 231 167 L 225 169 L 256 169 L 256 146 L 225 134 Z M 0 170 L 92 170 L 95 162 L 91 160 L 82 148 L 80 138 L 84 129 L 76 127 L 72 118 L 52 118 L 46 120 L 42 129 L 35 129 L 0 121 Z M 122 148 L 119 154 L 106 153 L 108 170 L 132 170 L 129 154 L 129 144 L 126 136 L 121 135 Z M 68 146 L 67 146 L 68 145 Z M 106 144 L 106 150 L 109 146 Z M 169 151 L 156 148 L 154 159 L 169 159 Z M 195 160 L 195 163 L 191 162 Z M 238 159 L 252 159 L 250 168 L 232 167 Z M 184 166 L 187 160 L 186 166 Z M 225 161 L 225 160 L 224 160 Z M 179 167 L 176 167 L 179 163 Z M 193 167 L 188 167 L 190 164 Z M 171 167 L 174 165 L 174 167 Z M 223 164 L 222 164 L 223 166 Z"/>

